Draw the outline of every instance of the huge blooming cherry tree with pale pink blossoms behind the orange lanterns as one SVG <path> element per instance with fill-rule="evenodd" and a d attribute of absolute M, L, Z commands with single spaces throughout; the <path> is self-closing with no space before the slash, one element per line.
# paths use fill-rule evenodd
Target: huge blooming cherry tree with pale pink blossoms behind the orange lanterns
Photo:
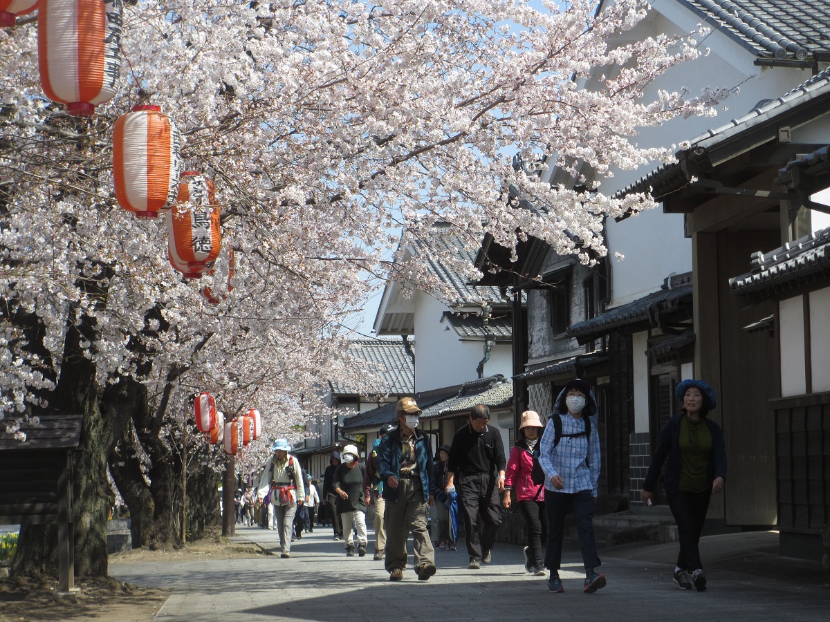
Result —
<path fill-rule="evenodd" d="M 508 248 L 535 236 L 589 261 L 605 253 L 604 217 L 652 207 L 637 195 L 587 201 L 511 165 L 518 154 L 574 175 L 577 163 L 599 176 L 636 168 L 671 153 L 638 148 L 639 129 L 710 113 L 722 92 L 642 98 L 700 53 L 695 36 L 608 45 L 646 10 L 133 0 L 120 91 L 89 119 L 42 94 L 32 18 L 0 31 L 0 411 L 11 430 L 24 416 L 84 415 L 94 442 L 75 483 L 79 573 L 106 572 L 107 469 L 149 499 L 139 478 L 170 478 L 159 461 L 186 442 L 194 392 L 212 391 L 226 415 L 263 413 L 251 449 L 261 460 L 271 439 L 296 438 L 305 415 L 325 412 L 325 379 L 370 381 L 344 353 L 350 314 L 389 278 L 440 294 L 423 262 L 390 260 L 402 234 L 445 221 L 473 247 L 486 232 Z M 590 75 L 605 75 L 603 88 L 581 89 Z M 146 103 L 176 120 L 185 168 L 217 185 L 232 291 L 227 255 L 213 275 L 183 279 L 162 219 L 135 220 L 115 201 L 112 127 Z M 548 216 L 508 202 L 511 186 Z M 199 293 L 206 284 L 218 304 Z M 220 468 L 215 451 L 203 458 Z"/>

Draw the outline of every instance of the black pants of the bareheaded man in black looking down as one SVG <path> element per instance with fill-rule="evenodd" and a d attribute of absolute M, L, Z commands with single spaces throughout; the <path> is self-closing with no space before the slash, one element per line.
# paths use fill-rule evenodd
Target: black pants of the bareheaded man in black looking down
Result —
<path fill-rule="evenodd" d="M 487 473 L 464 475 L 458 491 L 464 508 L 467 552 L 471 557 L 481 559 L 496 543 L 496 533 L 501 525 L 501 500 L 496 477 Z"/>

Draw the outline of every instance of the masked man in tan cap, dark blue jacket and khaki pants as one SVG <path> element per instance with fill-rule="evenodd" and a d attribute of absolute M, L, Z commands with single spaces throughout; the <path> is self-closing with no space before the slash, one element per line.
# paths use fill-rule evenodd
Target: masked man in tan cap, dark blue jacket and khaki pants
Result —
<path fill-rule="evenodd" d="M 407 537 L 413 534 L 415 572 L 418 581 L 435 574 L 435 549 L 427 531 L 427 503 L 435 503 L 432 477 L 432 445 L 429 436 L 417 430 L 421 409 L 413 397 L 395 405 L 398 428 L 378 445 L 378 474 L 386 499 L 386 570 L 389 581 L 403 579 L 407 566 Z"/>

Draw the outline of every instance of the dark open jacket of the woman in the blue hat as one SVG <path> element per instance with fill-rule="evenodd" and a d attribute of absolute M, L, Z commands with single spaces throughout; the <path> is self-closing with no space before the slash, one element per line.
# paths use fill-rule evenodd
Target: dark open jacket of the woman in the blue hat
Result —
<path fill-rule="evenodd" d="M 657 477 L 660 475 L 660 468 L 666 462 L 666 474 L 663 475 L 663 488 L 666 493 L 673 493 L 680 483 L 680 421 L 685 413 L 681 412 L 671 417 L 657 437 L 657 447 L 652 455 L 652 464 L 648 466 L 646 479 L 642 483 L 642 489 L 649 493 L 654 492 L 654 485 L 657 484 Z M 704 417 L 709 433 L 712 435 L 712 454 L 709 459 L 708 482 L 711 485 L 715 478 L 726 479 L 726 445 L 724 433 L 720 425 L 709 417 Z"/>

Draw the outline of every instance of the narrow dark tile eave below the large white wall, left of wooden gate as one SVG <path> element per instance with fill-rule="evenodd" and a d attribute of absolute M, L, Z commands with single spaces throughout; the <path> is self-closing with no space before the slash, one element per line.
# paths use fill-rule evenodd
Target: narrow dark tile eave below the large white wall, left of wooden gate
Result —
<path fill-rule="evenodd" d="M 691 286 L 691 272 L 675 275 L 671 279 L 666 279 L 662 288 L 652 294 L 608 309 L 605 313 L 584 322 L 571 324 L 567 334 L 584 340 L 608 334 L 615 328 L 642 322 L 650 323 L 655 309 L 669 311 L 691 301 Z"/>

